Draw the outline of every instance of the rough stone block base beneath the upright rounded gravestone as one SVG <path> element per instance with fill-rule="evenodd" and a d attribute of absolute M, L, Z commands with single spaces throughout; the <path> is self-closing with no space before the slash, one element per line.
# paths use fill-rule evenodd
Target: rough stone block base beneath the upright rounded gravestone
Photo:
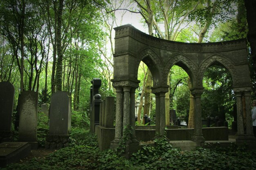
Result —
<path fill-rule="evenodd" d="M 47 135 L 45 149 L 60 149 L 68 145 L 69 135 Z"/>

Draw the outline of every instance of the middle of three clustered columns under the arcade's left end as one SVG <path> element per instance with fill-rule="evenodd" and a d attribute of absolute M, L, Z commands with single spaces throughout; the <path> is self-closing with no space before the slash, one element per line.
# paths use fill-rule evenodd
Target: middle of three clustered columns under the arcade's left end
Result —
<path fill-rule="evenodd" d="M 126 133 L 126 130 L 130 130 L 130 88 L 129 86 L 124 86 L 124 120 L 123 120 L 123 135 Z M 131 143 L 130 134 L 126 134 L 127 141 L 126 144 Z"/>

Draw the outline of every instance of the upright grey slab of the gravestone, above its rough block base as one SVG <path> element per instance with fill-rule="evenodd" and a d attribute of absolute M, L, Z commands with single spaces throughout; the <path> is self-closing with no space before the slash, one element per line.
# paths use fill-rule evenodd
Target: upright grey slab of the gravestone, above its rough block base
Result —
<path fill-rule="evenodd" d="M 67 92 L 57 91 L 52 95 L 49 135 L 67 135 L 70 121 L 70 97 Z"/>

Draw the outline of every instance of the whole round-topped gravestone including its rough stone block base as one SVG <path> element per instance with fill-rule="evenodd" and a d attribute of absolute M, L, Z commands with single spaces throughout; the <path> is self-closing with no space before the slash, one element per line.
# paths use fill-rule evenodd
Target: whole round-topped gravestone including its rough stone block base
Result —
<path fill-rule="evenodd" d="M 71 127 L 71 96 L 65 91 L 52 95 L 49 116 L 49 135 L 46 136 L 46 149 L 60 149 L 68 145 Z"/>

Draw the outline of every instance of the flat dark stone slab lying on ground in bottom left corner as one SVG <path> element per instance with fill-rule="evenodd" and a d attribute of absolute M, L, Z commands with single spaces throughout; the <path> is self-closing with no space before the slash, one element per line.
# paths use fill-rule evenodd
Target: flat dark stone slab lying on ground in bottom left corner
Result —
<path fill-rule="evenodd" d="M 0 167 L 15 163 L 31 151 L 28 142 L 3 142 L 0 144 Z"/>

